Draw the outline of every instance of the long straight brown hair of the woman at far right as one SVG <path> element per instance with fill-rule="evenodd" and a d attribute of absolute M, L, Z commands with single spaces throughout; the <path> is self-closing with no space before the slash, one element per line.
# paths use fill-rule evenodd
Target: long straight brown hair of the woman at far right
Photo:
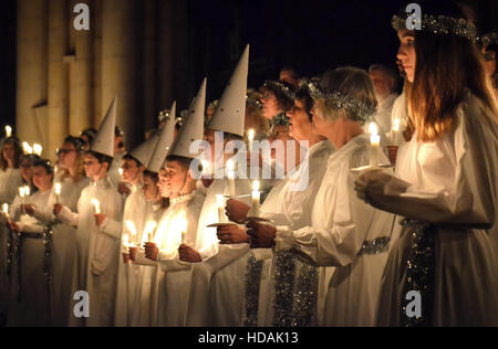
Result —
<path fill-rule="evenodd" d="M 428 13 L 465 18 L 457 7 L 446 7 L 445 12 Z M 467 91 L 496 117 L 498 107 L 490 80 L 475 43 L 453 34 L 415 31 L 415 80 L 407 84 L 406 97 L 418 141 L 435 141 L 453 129 Z"/>

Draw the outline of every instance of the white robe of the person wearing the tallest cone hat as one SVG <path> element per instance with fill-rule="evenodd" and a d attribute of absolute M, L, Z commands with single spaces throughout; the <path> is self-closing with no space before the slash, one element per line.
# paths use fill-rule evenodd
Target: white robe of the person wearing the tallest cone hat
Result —
<path fill-rule="evenodd" d="M 243 279 L 236 272 L 247 264 L 249 255 L 249 244 L 219 245 L 216 228 L 207 225 L 219 223 L 217 194 L 229 193 L 229 181 L 217 179 L 207 190 L 206 201 L 199 216 L 195 247 L 203 257 L 203 263 L 191 266 L 191 282 L 188 296 L 187 315 L 185 325 L 188 327 L 199 326 L 240 326 L 242 318 L 241 307 L 232 307 L 240 299 L 236 297 L 243 293 Z M 248 195 L 251 192 L 249 180 L 236 180 L 236 195 Z M 243 198 L 250 204 L 250 197 Z M 237 261 L 239 268 L 225 268 L 228 264 Z M 224 269 L 224 271 L 221 271 Z M 212 283 L 216 276 L 216 283 Z M 226 295 L 220 287 L 228 287 L 232 290 L 229 298 L 221 299 L 220 295 Z"/>

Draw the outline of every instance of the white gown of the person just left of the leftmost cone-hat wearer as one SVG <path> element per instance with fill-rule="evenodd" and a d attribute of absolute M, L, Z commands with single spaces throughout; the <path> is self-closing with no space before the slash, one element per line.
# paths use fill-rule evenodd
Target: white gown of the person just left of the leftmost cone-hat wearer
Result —
<path fill-rule="evenodd" d="M 44 225 L 54 223 L 53 205 L 56 202 L 64 204 L 73 212 L 77 212 L 77 201 L 82 190 L 90 184 L 90 179 L 82 177 L 74 181 L 71 177 L 66 177 L 60 179 L 59 182 L 61 183 L 59 198 L 55 195 L 55 187 L 52 187 L 46 205 L 39 207 L 35 210 L 34 216 Z M 52 226 L 51 289 L 54 309 L 51 325 L 61 327 L 69 324 L 68 309 L 72 299 L 71 286 L 76 253 L 76 229 L 61 221 L 56 221 L 56 224 L 52 224 Z"/>

